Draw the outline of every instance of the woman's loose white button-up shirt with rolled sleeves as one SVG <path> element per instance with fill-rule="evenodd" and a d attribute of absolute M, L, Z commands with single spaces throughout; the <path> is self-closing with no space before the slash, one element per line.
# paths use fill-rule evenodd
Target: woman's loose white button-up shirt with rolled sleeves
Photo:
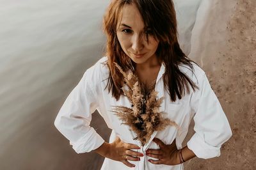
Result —
<path fill-rule="evenodd" d="M 112 129 L 109 143 L 113 142 L 115 137 L 118 136 L 125 143 L 141 146 L 139 141 L 133 140 L 136 136 L 134 132 L 129 130 L 127 125 L 121 125 L 122 121 L 118 120 L 115 114 L 111 112 L 111 109 L 113 109 L 111 105 L 123 105 L 131 108 L 131 103 L 124 96 L 116 101 L 115 98 L 111 97 L 111 93 L 108 93 L 106 84 L 109 70 L 108 66 L 104 66 L 102 63 L 107 59 L 106 56 L 99 59 L 95 65 L 86 70 L 76 88 L 68 95 L 54 121 L 55 127 L 67 137 L 77 153 L 90 152 L 104 143 L 104 139 L 97 134 L 94 128 L 90 127 L 92 113 L 96 109 L 104 118 L 108 127 Z M 165 67 L 162 63 L 155 87 L 155 90 L 158 91 L 157 97 L 164 97 L 159 111 L 166 112 L 167 114 L 164 117 L 167 116 L 175 121 L 180 128 L 178 130 L 176 127 L 168 126 L 162 131 L 155 131 L 151 135 L 150 141 L 137 151 L 145 153 L 148 148 L 159 149 L 159 146 L 152 141 L 154 137 L 161 139 L 165 144 L 171 144 L 176 139 L 177 148 L 182 148 L 182 141 L 188 133 L 189 123 L 193 118 L 195 134 L 188 141 L 188 148 L 198 158 L 206 159 L 220 156 L 221 145 L 232 136 L 232 131 L 205 72 L 195 64 L 193 64 L 193 67 L 195 74 L 192 74 L 188 66 L 179 66 L 180 71 L 186 73 L 200 89 L 196 89 L 195 92 L 191 89 L 191 92 L 187 93 L 181 100 L 171 102 L 167 91 L 164 89 L 162 75 Z M 136 165 L 134 168 L 127 167 L 122 162 L 105 158 L 101 169 L 183 169 L 182 164 L 176 166 L 152 164 L 148 162 L 148 159 L 154 158 L 143 155 L 144 157 L 140 157 L 140 161 L 129 160 L 129 162 Z"/>

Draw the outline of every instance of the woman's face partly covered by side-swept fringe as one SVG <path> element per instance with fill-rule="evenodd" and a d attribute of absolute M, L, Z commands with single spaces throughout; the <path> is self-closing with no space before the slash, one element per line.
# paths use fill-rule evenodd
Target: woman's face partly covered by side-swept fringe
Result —
<path fill-rule="evenodd" d="M 148 34 L 147 42 L 143 20 L 136 6 L 126 4 L 121 16 L 116 35 L 125 54 L 137 64 L 156 58 L 159 40 Z"/>

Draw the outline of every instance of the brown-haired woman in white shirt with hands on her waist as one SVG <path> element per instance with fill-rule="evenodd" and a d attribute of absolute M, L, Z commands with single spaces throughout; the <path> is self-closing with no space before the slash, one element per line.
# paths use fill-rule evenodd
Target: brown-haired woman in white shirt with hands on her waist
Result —
<path fill-rule="evenodd" d="M 221 145 L 232 135 L 230 125 L 205 72 L 179 47 L 172 1 L 112 0 L 104 31 L 106 56 L 86 70 L 54 121 L 74 150 L 106 157 L 102 169 L 183 169 L 182 163 L 193 157 L 219 157 Z M 146 88 L 154 84 L 164 99 L 159 111 L 180 128 L 155 130 L 141 145 L 110 111 L 113 105 L 132 107 L 115 63 L 124 72 L 132 70 Z M 96 109 L 112 129 L 109 143 L 90 127 Z M 195 134 L 182 148 L 191 118 Z"/>

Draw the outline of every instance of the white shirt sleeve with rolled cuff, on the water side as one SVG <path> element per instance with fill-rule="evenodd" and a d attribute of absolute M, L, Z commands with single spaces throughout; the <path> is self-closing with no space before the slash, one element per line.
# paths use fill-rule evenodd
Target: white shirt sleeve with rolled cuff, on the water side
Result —
<path fill-rule="evenodd" d="M 90 127 L 92 113 L 98 107 L 91 76 L 88 70 L 84 73 L 54 121 L 55 127 L 70 141 L 76 153 L 90 152 L 104 143 L 104 139 Z"/>

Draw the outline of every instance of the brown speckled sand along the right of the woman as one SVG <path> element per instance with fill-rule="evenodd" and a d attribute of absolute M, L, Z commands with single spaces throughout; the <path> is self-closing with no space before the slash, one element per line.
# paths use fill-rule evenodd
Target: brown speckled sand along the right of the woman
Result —
<path fill-rule="evenodd" d="M 193 55 L 207 72 L 233 135 L 223 144 L 220 157 L 193 158 L 185 169 L 256 169 L 256 1 L 236 1 L 227 26 L 221 23 L 225 3 L 216 4 L 199 38 L 204 49 Z"/>

